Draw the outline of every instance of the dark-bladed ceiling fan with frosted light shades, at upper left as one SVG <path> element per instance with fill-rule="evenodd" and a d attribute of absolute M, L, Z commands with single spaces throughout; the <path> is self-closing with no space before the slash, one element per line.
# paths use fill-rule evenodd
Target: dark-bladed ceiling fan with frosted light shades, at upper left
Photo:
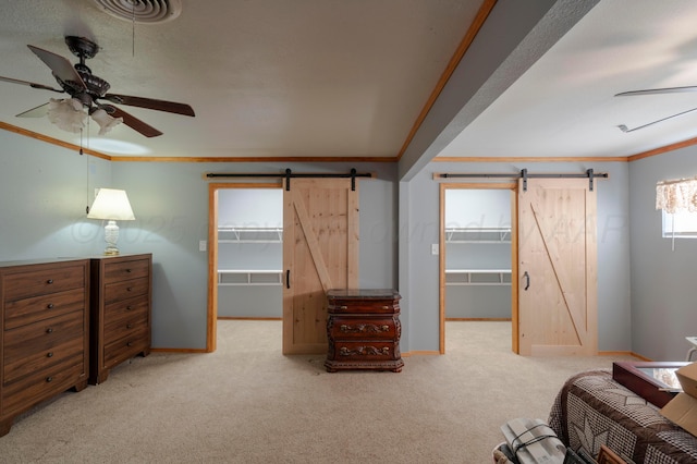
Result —
<path fill-rule="evenodd" d="M 162 135 L 160 131 L 151 125 L 140 121 L 139 119 L 129 114 L 127 112 L 119 109 L 110 103 L 103 103 L 100 100 L 107 100 L 111 103 L 127 105 L 132 107 L 146 108 L 150 110 L 164 111 L 175 114 L 183 114 L 194 117 L 194 110 L 192 107 L 185 103 L 178 103 L 173 101 L 156 100 L 152 98 L 133 97 L 121 94 L 108 94 L 111 85 L 91 73 L 91 70 L 85 64 L 85 60 L 94 58 L 99 51 L 99 47 L 94 41 L 77 36 L 66 36 L 65 44 L 70 51 L 80 58 L 80 62 L 72 65 L 68 59 L 56 54 L 53 52 L 40 49 L 28 45 L 29 49 L 50 68 L 53 77 L 61 86 L 60 89 L 36 84 L 33 82 L 21 81 L 11 77 L 0 76 L 0 81 L 10 82 L 13 84 L 28 85 L 33 88 L 40 88 L 44 90 L 52 90 L 57 93 L 66 93 L 70 95 L 73 105 L 76 105 L 81 112 L 85 111 L 93 115 L 97 120 L 97 115 L 103 115 L 106 112 L 108 115 L 114 119 L 121 119 L 123 123 L 131 129 L 139 132 L 146 137 L 156 137 Z M 53 102 L 56 100 L 52 100 Z M 78 103 L 75 103 L 78 102 Z M 82 108 L 80 107 L 82 103 Z M 39 107 L 33 108 L 28 111 L 17 114 L 17 117 L 37 117 L 44 115 L 50 110 L 51 103 L 45 103 Z M 102 111 L 99 111 L 102 110 Z M 97 113 L 97 114 L 95 114 Z M 99 121 L 98 121 L 99 122 Z M 100 122 L 101 125 L 101 122 Z"/>

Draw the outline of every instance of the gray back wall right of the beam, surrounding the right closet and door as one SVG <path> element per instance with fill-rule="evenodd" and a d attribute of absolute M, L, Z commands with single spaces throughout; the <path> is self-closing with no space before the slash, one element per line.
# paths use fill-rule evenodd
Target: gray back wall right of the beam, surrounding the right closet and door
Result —
<path fill-rule="evenodd" d="M 439 242 L 439 186 L 437 172 L 584 173 L 608 172 L 596 180 L 598 192 L 598 349 L 632 350 L 629 301 L 628 163 L 445 163 L 431 162 L 413 180 L 400 183 L 400 290 L 409 315 L 409 347 L 439 350 L 438 256 L 431 244 Z M 452 180 L 449 180 L 451 182 Z M 485 182 L 482 180 L 481 182 Z M 468 180 L 473 182 L 473 180 Z M 405 257 L 406 255 L 406 257 Z"/>

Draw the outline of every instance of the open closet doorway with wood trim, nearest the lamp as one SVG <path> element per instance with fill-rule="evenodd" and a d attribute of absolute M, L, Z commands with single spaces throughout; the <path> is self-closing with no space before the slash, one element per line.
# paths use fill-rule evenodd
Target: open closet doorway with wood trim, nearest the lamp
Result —
<path fill-rule="evenodd" d="M 209 185 L 207 351 L 219 319 L 281 320 L 283 190 L 280 184 Z M 212 313 L 212 314 L 210 314 Z"/>

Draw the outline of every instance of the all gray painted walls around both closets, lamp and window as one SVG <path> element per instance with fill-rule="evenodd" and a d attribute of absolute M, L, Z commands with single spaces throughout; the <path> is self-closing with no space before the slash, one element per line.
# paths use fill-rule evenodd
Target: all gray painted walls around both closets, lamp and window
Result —
<path fill-rule="evenodd" d="M 0 260 L 101 253 L 101 223 L 85 218 L 85 206 L 95 187 L 125 188 L 136 220 L 120 223 L 120 245 L 123 253 L 154 254 L 154 346 L 172 349 L 205 346 L 208 254 L 198 251 L 198 241 L 208 237 L 208 185 L 201 174 L 286 167 L 343 172 L 353 167 L 109 162 L 7 131 L 0 131 Z M 697 174 L 697 148 L 631 163 L 438 162 L 409 182 L 396 182 L 393 164 L 356 168 L 379 178 L 360 181 L 360 284 L 396 288 L 399 273 L 405 352 L 439 346 L 438 256 L 430 253 L 439 231 L 433 172 L 594 168 L 610 173 L 597 181 L 599 349 L 631 350 L 657 361 L 684 357 L 684 337 L 697 332 L 697 241 L 678 240 L 671 252 L 670 240 L 661 239 L 653 200 L 657 181 Z"/>

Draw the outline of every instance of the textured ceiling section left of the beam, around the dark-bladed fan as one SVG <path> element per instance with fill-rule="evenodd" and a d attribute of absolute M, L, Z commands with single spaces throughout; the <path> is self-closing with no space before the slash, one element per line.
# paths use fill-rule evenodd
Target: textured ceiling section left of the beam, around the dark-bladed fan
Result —
<path fill-rule="evenodd" d="M 0 4 L 0 75 L 56 86 L 26 45 L 74 62 L 63 36 L 87 36 L 101 47 L 87 64 L 110 91 L 196 112 L 120 107 L 164 134 L 146 139 L 122 125 L 112 145 L 158 157 L 393 158 L 480 1 L 183 1 L 178 19 L 156 25 L 114 19 L 93 0 Z M 0 120 L 80 143 L 46 119 L 15 118 L 57 95 L 0 83 Z M 96 133 L 93 123 L 85 143 L 102 149 Z"/>

